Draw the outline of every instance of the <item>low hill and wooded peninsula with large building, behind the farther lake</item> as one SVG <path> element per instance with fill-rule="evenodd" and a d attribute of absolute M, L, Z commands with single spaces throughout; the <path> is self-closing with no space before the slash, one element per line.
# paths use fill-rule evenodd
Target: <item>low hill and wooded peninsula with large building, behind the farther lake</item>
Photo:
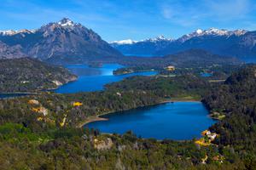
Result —
<path fill-rule="evenodd" d="M 173 77 L 209 73 L 209 80 L 225 80 L 234 71 L 243 67 L 241 60 L 229 56 L 209 53 L 201 49 L 190 49 L 164 57 L 141 59 L 131 57 L 120 61 L 125 67 L 113 71 L 114 75 L 125 75 L 141 71 L 157 71 L 161 76 Z M 171 68 L 171 69 L 170 69 Z"/>

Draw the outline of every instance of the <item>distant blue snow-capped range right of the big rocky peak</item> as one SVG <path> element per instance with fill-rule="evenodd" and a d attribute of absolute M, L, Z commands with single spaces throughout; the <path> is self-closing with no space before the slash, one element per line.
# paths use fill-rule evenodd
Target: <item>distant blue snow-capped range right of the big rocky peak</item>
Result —
<path fill-rule="evenodd" d="M 177 39 L 157 37 L 142 41 L 122 40 L 110 42 L 113 48 L 125 55 L 176 54 L 191 48 L 236 57 L 256 55 L 256 31 L 227 31 L 211 28 L 196 30 Z"/>

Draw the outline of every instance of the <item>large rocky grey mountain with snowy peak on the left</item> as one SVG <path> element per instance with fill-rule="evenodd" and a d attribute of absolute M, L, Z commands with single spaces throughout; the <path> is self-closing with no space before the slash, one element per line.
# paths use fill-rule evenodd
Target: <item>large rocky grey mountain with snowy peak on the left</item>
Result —
<path fill-rule="evenodd" d="M 67 18 L 32 31 L 0 31 L 0 41 L 9 47 L 19 45 L 22 53 L 41 60 L 86 61 L 122 55 L 96 32 Z"/>

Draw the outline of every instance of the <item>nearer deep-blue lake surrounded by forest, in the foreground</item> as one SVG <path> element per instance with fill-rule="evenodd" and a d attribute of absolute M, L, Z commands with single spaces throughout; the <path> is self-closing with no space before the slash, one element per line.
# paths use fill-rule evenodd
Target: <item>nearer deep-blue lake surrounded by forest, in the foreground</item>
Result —
<path fill-rule="evenodd" d="M 143 138 L 183 140 L 200 138 L 201 132 L 216 122 L 201 102 L 167 103 L 102 117 L 108 121 L 90 122 L 84 127 L 102 133 L 122 134 L 131 130 Z"/>

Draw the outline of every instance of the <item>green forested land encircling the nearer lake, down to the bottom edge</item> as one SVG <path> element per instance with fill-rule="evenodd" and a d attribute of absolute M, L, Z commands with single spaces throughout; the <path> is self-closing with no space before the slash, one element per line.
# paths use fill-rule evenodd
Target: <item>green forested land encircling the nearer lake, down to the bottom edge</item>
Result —
<path fill-rule="evenodd" d="M 16 169 L 253 169 L 255 72 L 254 65 L 243 66 L 224 82 L 193 73 L 129 77 L 99 92 L 42 92 L 2 99 L 0 165 Z M 216 138 L 203 133 L 202 139 L 158 141 L 138 138 L 132 132 L 101 134 L 81 127 L 90 116 L 188 98 L 201 100 L 220 119 L 208 129 Z"/>

